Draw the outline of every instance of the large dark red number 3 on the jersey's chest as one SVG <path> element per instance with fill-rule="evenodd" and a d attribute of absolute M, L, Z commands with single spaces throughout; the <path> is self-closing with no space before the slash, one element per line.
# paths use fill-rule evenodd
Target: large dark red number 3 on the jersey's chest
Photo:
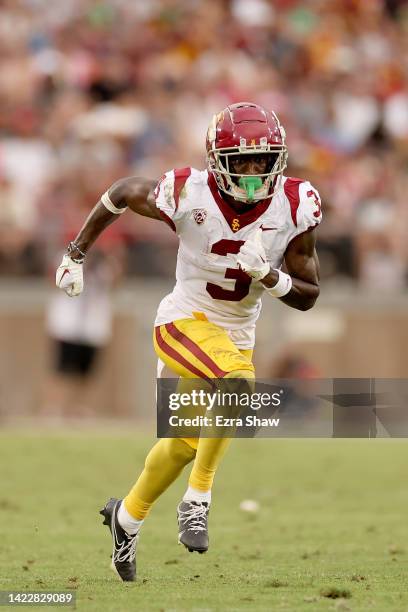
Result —
<path fill-rule="evenodd" d="M 229 253 L 236 255 L 243 244 L 243 240 L 227 240 L 225 238 L 212 245 L 211 253 L 216 255 L 228 255 Z M 207 283 L 207 292 L 214 300 L 240 302 L 248 295 L 252 279 L 245 272 L 237 268 L 227 268 L 225 270 L 225 278 L 235 279 L 234 289 L 224 289 L 214 283 Z"/>

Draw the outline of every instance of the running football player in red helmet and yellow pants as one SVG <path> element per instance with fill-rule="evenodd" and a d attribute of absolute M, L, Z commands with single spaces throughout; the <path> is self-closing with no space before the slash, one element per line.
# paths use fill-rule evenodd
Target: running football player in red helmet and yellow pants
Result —
<path fill-rule="evenodd" d="M 308 310 L 319 295 L 314 228 L 321 202 L 306 180 L 283 175 L 285 131 L 276 114 L 242 102 L 215 115 L 207 132 L 206 170 L 170 170 L 158 181 L 135 176 L 114 183 L 68 246 L 56 282 L 68 295 L 83 289 L 83 262 L 100 233 L 127 209 L 177 233 L 176 285 L 159 305 L 153 342 L 159 371 L 176 377 L 254 379 L 252 351 L 261 299 Z M 136 577 L 136 543 L 152 504 L 192 462 L 177 513 L 179 541 L 208 549 L 215 472 L 229 439 L 161 439 L 123 500 L 101 513 L 122 580 Z"/>

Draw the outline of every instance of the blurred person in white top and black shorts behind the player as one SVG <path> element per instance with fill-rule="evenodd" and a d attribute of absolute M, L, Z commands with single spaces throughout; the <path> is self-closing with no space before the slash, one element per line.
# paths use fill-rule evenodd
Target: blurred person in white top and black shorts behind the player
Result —
<path fill-rule="evenodd" d="M 120 249 L 107 255 L 96 247 L 86 265 L 88 282 L 78 299 L 55 290 L 48 305 L 52 373 L 43 410 L 48 417 L 91 416 L 92 374 L 111 337 L 110 293 L 122 272 Z"/>

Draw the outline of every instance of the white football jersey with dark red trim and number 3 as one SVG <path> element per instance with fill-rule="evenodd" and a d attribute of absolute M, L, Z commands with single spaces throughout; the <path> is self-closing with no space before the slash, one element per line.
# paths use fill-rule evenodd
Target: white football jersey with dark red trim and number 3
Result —
<path fill-rule="evenodd" d="M 252 348 L 265 289 L 229 255 L 238 253 L 260 227 L 267 260 L 279 268 L 290 241 L 321 221 L 317 190 L 308 181 L 282 177 L 272 199 L 238 214 L 207 170 L 182 168 L 162 177 L 155 196 L 180 240 L 177 282 L 161 301 L 155 325 L 204 313 L 226 329 L 239 348 Z"/>

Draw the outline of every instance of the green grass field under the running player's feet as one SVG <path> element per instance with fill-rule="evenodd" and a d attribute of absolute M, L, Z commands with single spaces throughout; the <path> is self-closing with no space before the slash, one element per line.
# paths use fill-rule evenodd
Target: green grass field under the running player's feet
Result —
<path fill-rule="evenodd" d="M 151 443 L 3 431 L 1 588 L 74 588 L 77 609 L 103 612 L 408 610 L 404 441 L 234 442 L 216 479 L 209 552 L 177 545 L 186 471 L 143 527 L 137 583 L 123 584 L 98 510 L 127 492 Z M 243 499 L 259 512 L 243 513 Z"/>

